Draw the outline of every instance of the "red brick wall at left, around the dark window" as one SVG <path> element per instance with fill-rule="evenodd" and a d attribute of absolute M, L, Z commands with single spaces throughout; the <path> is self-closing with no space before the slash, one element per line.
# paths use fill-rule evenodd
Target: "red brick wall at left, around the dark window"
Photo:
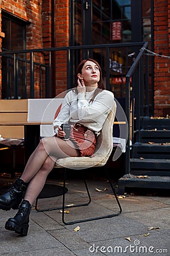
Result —
<path fill-rule="evenodd" d="M 25 1 L 25 0 L 1 0 L 0 10 L 28 21 L 26 29 L 27 49 L 50 48 L 52 47 L 52 1 Z M 69 46 L 69 0 L 56 1 L 56 13 L 54 20 L 54 30 L 56 31 L 56 42 L 53 47 Z M 0 13 L 1 26 L 1 13 Z M 0 27 L 1 32 L 1 27 Z M 3 32 L 3 31 L 2 31 Z M 0 34 L 0 48 L 1 38 Z M 67 88 L 66 85 L 66 52 L 56 53 L 53 73 L 56 75 L 54 86 L 54 96 Z M 40 63 L 48 63 L 48 54 L 36 53 L 34 56 Z M 0 64 L 1 65 L 1 64 Z M 28 71 L 29 72 L 29 71 Z M 0 92 L 1 92 L 0 73 Z M 29 81 L 28 92 L 29 92 Z M 42 92 L 42 95 L 44 92 Z M 29 97 L 29 96 L 28 96 Z M 39 79 L 35 81 L 35 97 L 39 97 Z M 1 94 L 0 94 L 1 98 Z"/>

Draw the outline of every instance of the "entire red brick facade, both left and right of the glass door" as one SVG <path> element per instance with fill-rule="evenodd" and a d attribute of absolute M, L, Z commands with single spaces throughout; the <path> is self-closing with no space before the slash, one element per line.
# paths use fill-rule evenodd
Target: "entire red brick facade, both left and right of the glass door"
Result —
<path fill-rule="evenodd" d="M 30 22 L 27 26 L 27 49 L 52 47 L 52 1 L 1 0 L 0 11 L 5 10 Z M 55 42 L 53 47 L 69 46 L 69 0 L 56 1 L 54 20 Z M 0 49 L 2 38 L 0 13 Z M 170 0 L 154 0 L 154 51 L 169 56 L 170 47 Z M 56 53 L 55 94 L 66 89 L 66 52 Z M 45 56 L 39 55 L 39 61 Z M 1 65 L 1 64 L 0 64 Z M 163 115 L 170 109 L 170 63 L 165 57 L 155 57 L 155 115 Z M 0 66 L 0 98 L 1 98 Z M 38 86 L 38 85 L 37 85 Z M 38 89 L 38 88 L 37 88 Z M 36 97 L 35 92 L 35 97 Z M 37 97 L 39 97 L 37 95 Z M 168 113 L 169 114 L 169 113 Z"/>

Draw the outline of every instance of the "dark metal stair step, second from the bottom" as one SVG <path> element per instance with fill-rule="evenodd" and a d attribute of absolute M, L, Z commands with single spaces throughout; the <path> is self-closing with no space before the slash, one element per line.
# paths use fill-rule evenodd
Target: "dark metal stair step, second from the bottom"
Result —
<path fill-rule="evenodd" d="M 170 176 L 170 159 L 130 159 L 130 173 L 134 175 Z"/>

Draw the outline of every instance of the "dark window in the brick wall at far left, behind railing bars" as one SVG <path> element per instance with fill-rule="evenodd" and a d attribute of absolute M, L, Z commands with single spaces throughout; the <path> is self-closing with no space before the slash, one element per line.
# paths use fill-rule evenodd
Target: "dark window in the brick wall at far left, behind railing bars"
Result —
<path fill-rule="evenodd" d="M 2 51 L 25 49 L 25 28 L 23 20 L 2 11 Z M 14 56 L 2 56 L 2 99 L 25 98 L 24 55 L 20 54 L 14 63 Z M 14 65 L 18 65 L 14 74 Z"/>

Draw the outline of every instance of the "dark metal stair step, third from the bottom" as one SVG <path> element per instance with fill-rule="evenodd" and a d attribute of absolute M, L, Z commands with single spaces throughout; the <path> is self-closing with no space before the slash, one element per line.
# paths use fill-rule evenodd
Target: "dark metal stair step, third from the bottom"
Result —
<path fill-rule="evenodd" d="M 132 158 L 170 159 L 170 144 L 134 144 Z"/>

